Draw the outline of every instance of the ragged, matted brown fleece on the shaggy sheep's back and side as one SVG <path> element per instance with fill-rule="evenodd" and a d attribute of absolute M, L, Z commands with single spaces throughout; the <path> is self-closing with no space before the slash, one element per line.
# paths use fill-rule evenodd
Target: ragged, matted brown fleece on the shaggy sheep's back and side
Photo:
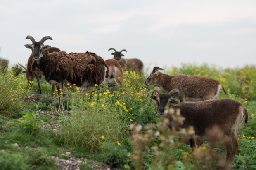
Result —
<path fill-rule="evenodd" d="M 82 83 L 84 79 L 89 79 L 94 83 L 100 84 L 104 81 L 104 79 L 102 79 L 104 72 L 98 70 L 97 67 L 106 64 L 104 60 L 95 53 L 88 51 L 85 53 L 66 53 L 65 51 L 48 53 L 48 51 L 44 51 L 44 55 L 47 56 L 46 60 L 48 63 L 45 70 L 50 75 L 53 72 L 64 70 L 66 76 L 71 78 L 71 82 L 80 80 Z"/>

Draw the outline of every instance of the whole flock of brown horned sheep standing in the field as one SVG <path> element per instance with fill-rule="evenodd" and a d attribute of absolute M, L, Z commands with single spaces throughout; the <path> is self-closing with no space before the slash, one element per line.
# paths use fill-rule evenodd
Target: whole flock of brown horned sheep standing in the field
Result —
<path fill-rule="evenodd" d="M 109 86 L 116 83 L 122 85 L 123 69 L 133 68 L 136 72 L 142 72 L 143 63 L 139 59 L 125 59 L 122 52 L 113 50 L 114 59 L 103 60 L 95 53 L 66 53 L 59 48 L 44 45 L 44 41 L 52 38 L 43 37 L 41 41 L 36 42 L 32 36 L 27 36 L 32 44 L 25 46 L 32 50 L 28 59 L 26 76 L 28 82 L 32 82 L 34 77 L 38 81 L 37 92 L 42 92 L 40 78 L 45 76 L 45 80 L 52 84 L 52 93 L 55 86 L 58 92 L 64 93 L 65 86 L 76 84 L 81 87 L 81 92 L 87 91 L 95 84 L 99 85 L 106 81 Z M 194 135 L 188 137 L 192 149 L 200 145 L 200 140 L 215 142 L 223 140 L 227 149 L 226 168 L 232 165 L 235 154 L 238 149 L 237 131 L 245 117 L 248 119 L 247 110 L 241 103 L 232 99 L 218 99 L 220 90 L 225 92 L 223 86 L 213 78 L 197 75 L 174 75 L 168 76 L 161 73 L 163 70 L 154 67 L 145 85 L 159 85 L 166 92 L 162 94 L 159 87 L 153 90 L 159 95 L 151 96 L 156 102 L 159 115 L 164 115 L 164 108 L 167 104 L 173 109 L 180 109 L 180 114 L 185 117 L 182 127 L 194 127 Z M 65 93 L 64 93 L 65 94 Z M 226 94 L 226 92 L 225 92 Z M 179 99 L 180 103 L 175 99 Z M 191 102 L 185 102 L 189 100 Z M 64 111 L 62 100 L 60 106 Z M 171 118 L 170 118 L 171 119 Z M 171 128 L 171 125 L 170 125 Z M 217 128 L 218 135 L 211 137 L 209 130 Z M 202 142 L 201 142 L 202 143 Z"/>

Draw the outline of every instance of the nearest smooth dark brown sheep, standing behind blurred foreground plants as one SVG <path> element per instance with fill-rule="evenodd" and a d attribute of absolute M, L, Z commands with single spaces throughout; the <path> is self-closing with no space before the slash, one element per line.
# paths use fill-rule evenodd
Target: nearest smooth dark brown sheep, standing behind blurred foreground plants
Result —
<path fill-rule="evenodd" d="M 193 126 L 195 133 L 189 137 L 192 150 L 196 147 L 196 136 L 201 140 L 209 142 L 223 140 L 227 149 L 226 168 L 232 165 L 238 149 L 237 130 L 242 124 L 244 116 L 245 123 L 247 123 L 248 119 L 247 110 L 241 103 L 232 99 L 211 99 L 178 103 L 172 97 L 175 93 L 180 94 L 178 89 L 162 94 L 159 87 L 154 87 L 153 92 L 159 94 L 159 96 L 151 96 L 151 99 L 156 102 L 159 115 L 164 115 L 164 108 L 170 104 L 170 108 L 180 109 L 180 115 L 185 117 L 185 121 L 181 125 L 183 128 Z M 171 117 L 169 117 L 169 120 L 172 122 Z M 211 134 L 211 131 L 216 127 L 220 131 L 214 136 Z"/>

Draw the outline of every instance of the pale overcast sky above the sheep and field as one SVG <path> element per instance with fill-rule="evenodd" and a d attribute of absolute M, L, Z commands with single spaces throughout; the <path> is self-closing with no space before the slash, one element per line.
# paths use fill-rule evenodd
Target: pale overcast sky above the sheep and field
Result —
<path fill-rule="evenodd" d="M 180 63 L 243 67 L 256 64 L 255 0 L 1 0 L 0 57 L 26 64 L 31 44 L 66 52 L 109 48 L 146 66 Z"/>

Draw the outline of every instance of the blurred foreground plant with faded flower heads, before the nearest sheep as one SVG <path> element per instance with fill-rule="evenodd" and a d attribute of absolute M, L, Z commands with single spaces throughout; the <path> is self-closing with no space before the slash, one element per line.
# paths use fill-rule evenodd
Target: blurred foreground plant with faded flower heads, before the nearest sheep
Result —
<path fill-rule="evenodd" d="M 170 121 L 172 120 L 172 121 Z M 220 168 L 225 163 L 222 157 L 215 154 L 211 148 L 206 146 L 199 147 L 190 152 L 182 152 L 183 158 L 179 161 L 175 158 L 177 151 L 180 150 L 181 143 L 194 133 L 190 126 L 181 128 L 184 117 L 179 110 L 169 109 L 162 121 L 154 125 L 149 124 L 144 127 L 140 124 L 130 125 L 130 137 L 133 145 L 131 159 L 134 161 L 135 169 L 145 169 L 147 155 L 151 152 L 151 164 L 148 169 L 215 169 Z M 170 128 L 171 127 L 171 128 Z"/>

